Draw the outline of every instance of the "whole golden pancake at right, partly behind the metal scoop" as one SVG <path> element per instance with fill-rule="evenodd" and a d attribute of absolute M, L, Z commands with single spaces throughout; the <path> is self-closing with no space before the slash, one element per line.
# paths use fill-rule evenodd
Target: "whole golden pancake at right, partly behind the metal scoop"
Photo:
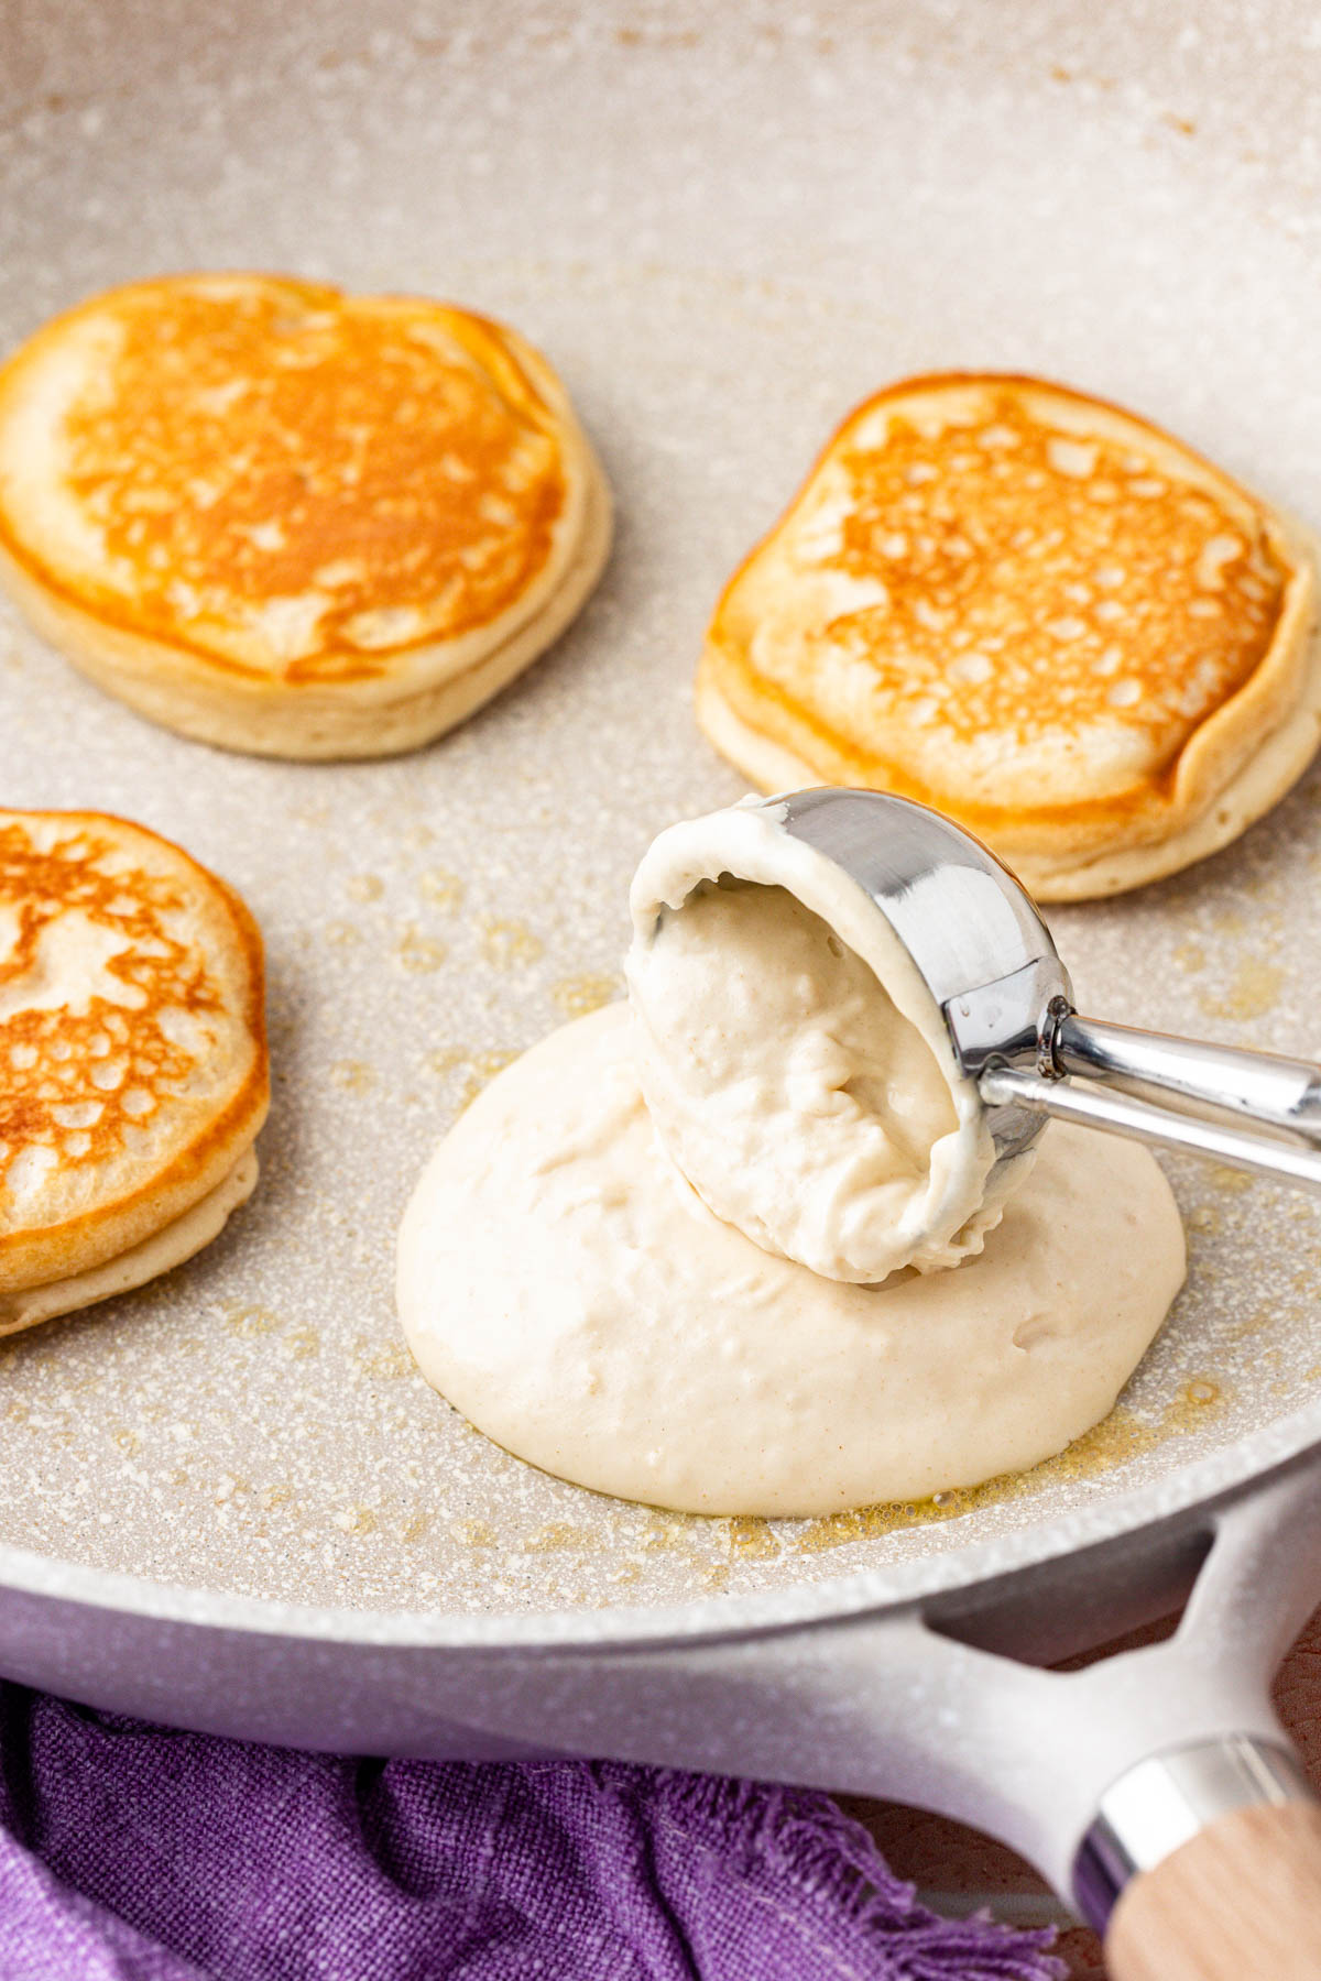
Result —
<path fill-rule="evenodd" d="M 1321 741 L 1307 537 L 1064 386 L 913 378 L 830 440 L 727 584 L 697 715 L 764 790 L 963 820 L 1042 899 L 1228 844 Z"/>

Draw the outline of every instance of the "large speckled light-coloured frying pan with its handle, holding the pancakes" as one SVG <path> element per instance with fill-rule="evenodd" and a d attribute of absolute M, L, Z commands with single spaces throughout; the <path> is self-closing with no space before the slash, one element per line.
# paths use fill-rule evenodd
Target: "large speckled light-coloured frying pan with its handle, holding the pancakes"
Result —
<path fill-rule="evenodd" d="M 0 36 L 6 345 L 156 269 L 448 295 L 551 353 L 620 497 L 568 638 L 396 763 L 184 743 L 0 622 L 6 802 L 127 812 L 226 874 L 267 935 L 275 1064 L 230 1230 L 2 1351 L 0 1666 L 275 1741 L 901 1797 L 1097 1924 L 1131 1880 L 1121 1975 L 1321 1971 L 1315 1904 L 1254 1890 L 1317 1890 L 1266 1698 L 1321 1595 L 1315 1200 L 1170 1161 L 1190 1282 L 1117 1414 L 1022 1480 L 824 1521 L 517 1464 L 422 1385 L 390 1300 L 448 1119 L 618 989 L 638 854 L 739 794 L 693 656 L 852 402 L 1054 374 L 1321 517 L 1311 10 L 65 0 Z M 1315 1050 L 1319 792 L 1052 915 L 1079 998 Z M 1170 1642 L 1038 1668 L 1188 1591 Z"/>

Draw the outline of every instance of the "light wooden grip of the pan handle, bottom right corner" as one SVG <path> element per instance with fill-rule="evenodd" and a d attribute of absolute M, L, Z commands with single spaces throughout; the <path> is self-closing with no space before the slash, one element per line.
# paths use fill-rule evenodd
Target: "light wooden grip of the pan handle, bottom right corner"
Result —
<path fill-rule="evenodd" d="M 1111 1981 L 1321 1981 L 1321 1805 L 1236 1809 L 1143 1872 L 1105 1935 Z"/>

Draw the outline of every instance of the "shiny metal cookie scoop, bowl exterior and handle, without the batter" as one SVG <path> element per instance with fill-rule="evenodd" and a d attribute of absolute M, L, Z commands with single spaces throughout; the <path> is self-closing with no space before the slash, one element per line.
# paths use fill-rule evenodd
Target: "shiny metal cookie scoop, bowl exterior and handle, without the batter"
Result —
<path fill-rule="evenodd" d="M 909 951 L 986 1103 L 998 1165 L 1058 1115 L 1321 1189 L 1321 1066 L 1079 1018 L 1030 895 L 925 804 L 826 788 L 764 808 L 844 868 Z"/>

